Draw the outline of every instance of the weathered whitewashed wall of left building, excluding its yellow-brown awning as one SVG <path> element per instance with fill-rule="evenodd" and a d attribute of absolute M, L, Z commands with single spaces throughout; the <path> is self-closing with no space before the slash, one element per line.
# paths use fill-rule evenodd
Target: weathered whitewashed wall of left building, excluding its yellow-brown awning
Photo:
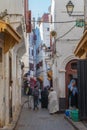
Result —
<path fill-rule="evenodd" d="M 24 0 L 16 0 L 16 1 L 0 1 L 0 13 L 3 12 L 5 9 L 7 9 L 5 20 L 13 26 L 13 28 L 16 30 L 17 27 L 20 25 L 22 26 L 22 16 L 24 15 Z M 23 25 L 24 26 L 24 25 Z M 23 29 L 23 28 L 22 28 Z M 24 31 L 24 30 L 22 30 Z M 23 32 L 21 32 L 21 36 L 24 38 L 25 35 L 22 35 Z M 25 37 L 26 38 L 26 37 Z M 24 39 L 25 39 L 24 38 Z M 23 40 L 23 39 L 22 39 Z M 25 42 L 25 41 L 24 41 Z M 18 116 L 18 106 L 21 104 L 21 78 L 17 76 L 17 73 L 20 73 L 20 67 L 17 66 L 17 63 L 19 62 L 21 55 L 19 55 L 19 58 L 17 58 L 17 50 L 22 49 L 22 55 L 25 51 L 25 43 L 20 43 L 16 45 L 12 50 L 10 50 L 8 53 L 4 55 L 4 61 L 3 61 L 3 81 L 0 88 L 0 123 L 2 125 L 8 125 L 10 123 L 9 120 L 9 94 L 10 94 L 10 86 L 9 86 L 9 54 L 11 54 L 12 57 L 12 111 L 13 111 L 13 120 L 15 120 L 16 115 Z M 18 68 L 17 68 L 18 67 Z M 18 71 L 16 71 L 18 69 Z M 0 73 L 1 74 L 1 73 Z M 1 78 L 2 78 L 1 77 Z M 18 79 L 20 78 L 20 79 Z M 10 79 L 11 80 L 11 79 Z M 19 81 L 19 83 L 17 83 Z M 19 92 L 19 93 L 18 93 Z M 16 98 L 17 97 L 17 98 Z M 4 103 L 5 102 L 5 103 Z"/>

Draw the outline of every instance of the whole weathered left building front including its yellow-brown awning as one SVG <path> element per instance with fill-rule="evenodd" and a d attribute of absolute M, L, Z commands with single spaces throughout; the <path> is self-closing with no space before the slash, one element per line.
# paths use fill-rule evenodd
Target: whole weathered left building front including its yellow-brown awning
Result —
<path fill-rule="evenodd" d="M 0 1 L 0 127 L 21 107 L 21 57 L 26 52 L 24 1 Z"/>

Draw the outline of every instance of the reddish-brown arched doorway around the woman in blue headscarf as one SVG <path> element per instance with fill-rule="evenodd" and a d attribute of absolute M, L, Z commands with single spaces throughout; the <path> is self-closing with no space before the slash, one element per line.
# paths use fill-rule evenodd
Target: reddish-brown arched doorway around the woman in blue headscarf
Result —
<path fill-rule="evenodd" d="M 76 80 L 77 83 L 77 60 L 72 60 L 66 65 L 66 73 L 65 73 L 65 85 L 66 85 L 66 108 L 69 107 L 69 99 L 68 99 L 68 85 L 72 79 Z M 77 85 L 78 86 L 78 85 Z"/>

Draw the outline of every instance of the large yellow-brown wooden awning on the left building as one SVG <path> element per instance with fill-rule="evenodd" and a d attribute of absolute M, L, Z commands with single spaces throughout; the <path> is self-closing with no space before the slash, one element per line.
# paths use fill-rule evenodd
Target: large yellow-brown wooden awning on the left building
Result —
<path fill-rule="evenodd" d="M 4 53 L 21 40 L 21 36 L 11 27 L 11 25 L 2 20 L 0 20 L 0 32 L 4 33 Z"/>

